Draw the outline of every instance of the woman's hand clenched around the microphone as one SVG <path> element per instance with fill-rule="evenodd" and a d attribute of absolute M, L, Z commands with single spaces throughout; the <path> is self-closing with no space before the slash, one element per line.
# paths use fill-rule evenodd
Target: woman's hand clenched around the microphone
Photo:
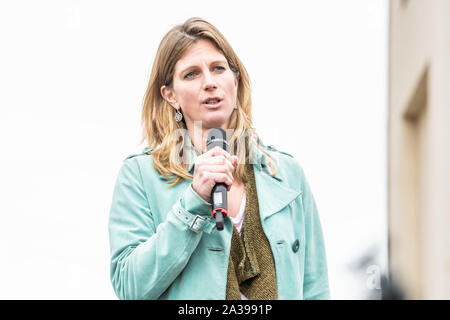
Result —
<path fill-rule="evenodd" d="M 230 191 L 233 184 L 233 170 L 237 156 L 232 156 L 220 147 L 215 147 L 197 157 L 194 166 L 192 189 L 205 201 L 211 202 L 212 188 L 223 182 Z"/>

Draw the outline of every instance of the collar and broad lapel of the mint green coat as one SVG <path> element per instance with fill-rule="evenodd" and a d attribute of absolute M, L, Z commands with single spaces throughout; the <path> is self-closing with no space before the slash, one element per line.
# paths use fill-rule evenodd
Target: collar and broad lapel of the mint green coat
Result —
<path fill-rule="evenodd" d="M 194 162 L 198 154 L 193 148 L 189 134 L 186 134 L 185 137 L 185 145 L 188 146 L 188 171 L 193 174 Z M 265 147 L 259 138 L 258 143 Z M 253 163 L 255 169 L 254 174 L 259 209 L 261 216 L 265 219 L 286 207 L 296 199 L 301 192 L 291 189 L 287 183 L 284 183 L 280 174 L 280 168 L 274 177 L 270 176 L 270 169 L 267 165 L 267 156 L 257 147 L 253 147 L 252 151 L 253 153 L 250 153 L 250 161 Z"/>

